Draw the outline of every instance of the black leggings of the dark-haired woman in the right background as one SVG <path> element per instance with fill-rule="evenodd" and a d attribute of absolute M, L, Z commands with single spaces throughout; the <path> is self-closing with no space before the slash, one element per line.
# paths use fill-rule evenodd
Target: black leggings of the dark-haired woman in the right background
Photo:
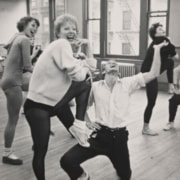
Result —
<path fill-rule="evenodd" d="M 161 66 L 161 73 L 168 70 L 169 83 L 173 83 L 173 66 L 174 62 L 171 59 L 167 59 Z M 146 84 L 147 106 L 144 111 L 144 122 L 149 123 L 152 115 L 153 108 L 156 104 L 158 94 L 158 80 L 154 79 Z"/>

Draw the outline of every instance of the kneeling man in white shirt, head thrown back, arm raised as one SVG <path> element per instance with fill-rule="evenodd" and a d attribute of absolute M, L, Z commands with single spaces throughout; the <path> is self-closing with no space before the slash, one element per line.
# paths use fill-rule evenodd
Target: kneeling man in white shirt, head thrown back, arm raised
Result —
<path fill-rule="evenodd" d="M 64 154 L 60 163 L 71 180 L 90 179 L 80 164 L 97 155 L 105 155 L 112 162 L 121 180 L 130 180 L 131 167 L 128 150 L 126 121 L 131 94 L 157 78 L 160 74 L 160 49 L 163 42 L 154 46 L 154 60 L 151 70 L 132 77 L 119 79 L 118 64 L 110 60 L 105 65 L 105 79 L 92 84 L 89 105 L 94 103 L 95 122 L 88 142 L 90 147 L 80 144 Z"/>

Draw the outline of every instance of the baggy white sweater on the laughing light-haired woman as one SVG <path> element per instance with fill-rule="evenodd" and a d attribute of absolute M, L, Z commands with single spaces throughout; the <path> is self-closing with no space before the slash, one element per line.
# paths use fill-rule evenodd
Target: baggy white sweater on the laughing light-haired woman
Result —
<path fill-rule="evenodd" d="M 84 80 L 87 70 L 93 71 L 95 68 L 95 59 L 75 59 L 70 43 L 65 39 L 58 39 L 39 57 L 30 80 L 27 98 L 54 106 L 65 95 L 72 80 Z"/>

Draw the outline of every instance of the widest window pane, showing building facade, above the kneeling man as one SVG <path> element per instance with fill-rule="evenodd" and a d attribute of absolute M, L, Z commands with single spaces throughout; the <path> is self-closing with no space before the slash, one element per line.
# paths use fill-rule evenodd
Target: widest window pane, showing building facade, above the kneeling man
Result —
<path fill-rule="evenodd" d="M 108 0 L 107 12 L 107 53 L 138 56 L 140 0 Z"/>

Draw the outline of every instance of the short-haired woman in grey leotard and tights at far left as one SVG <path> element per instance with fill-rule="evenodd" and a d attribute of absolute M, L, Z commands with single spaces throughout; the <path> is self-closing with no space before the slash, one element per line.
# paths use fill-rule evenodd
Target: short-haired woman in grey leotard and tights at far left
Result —
<path fill-rule="evenodd" d="M 21 165 L 19 159 L 12 150 L 16 125 L 22 105 L 23 72 L 32 72 L 31 59 L 36 56 L 37 50 L 30 55 L 30 39 L 32 38 L 40 23 L 37 19 L 26 16 L 19 20 L 15 34 L 10 42 L 5 45 L 7 59 L 2 76 L 1 87 L 7 99 L 8 122 L 4 131 L 4 151 L 2 162 L 12 165 Z"/>

